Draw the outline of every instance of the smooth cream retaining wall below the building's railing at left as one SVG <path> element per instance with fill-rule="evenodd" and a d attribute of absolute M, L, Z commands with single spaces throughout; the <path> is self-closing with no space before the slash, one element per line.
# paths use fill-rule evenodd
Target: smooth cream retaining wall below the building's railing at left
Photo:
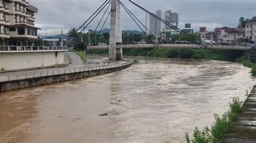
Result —
<path fill-rule="evenodd" d="M 64 63 L 64 51 L 0 53 L 0 70 L 40 68 Z"/>

